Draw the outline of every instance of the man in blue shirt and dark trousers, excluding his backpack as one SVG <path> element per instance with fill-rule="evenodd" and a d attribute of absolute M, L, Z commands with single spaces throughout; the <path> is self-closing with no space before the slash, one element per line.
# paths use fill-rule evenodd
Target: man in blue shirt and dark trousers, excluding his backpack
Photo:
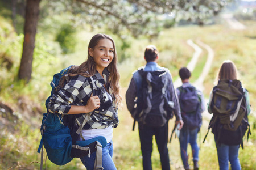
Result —
<path fill-rule="evenodd" d="M 157 64 L 158 61 L 158 50 L 154 45 L 149 45 L 146 47 L 146 50 L 144 52 L 144 59 L 146 60 L 147 64 L 144 66 L 144 71 L 156 71 L 156 70 L 168 70 L 164 67 L 160 67 Z M 173 109 L 176 116 L 176 124 L 180 124 L 180 129 L 183 126 L 183 120 L 181 118 L 180 114 L 180 106 L 179 106 L 179 100 L 177 99 L 177 95 L 172 83 L 172 77 L 169 71 L 167 71 L 168 76 L 168 87 L 166 92 L 170 93 L 171 101 L 173 102 Z M 130 85 L 128 90 L 126 91 L 126 105 L 130 112 L 133 112 L 135 108 L 137 99 L 137 92 L 141 92 L 138 89 L 142 86 L 142 76 L 138 73 L 138 71 L 135 71 L 133 73 L 133 78 L 131 79 Z M 138 102 L 139 104 L 139 102 Z M 170 113 L 171 114 L 171 113 Z M 168 121 L 166 124 L 162 127 L 152 127 L 147 124 L 143 124 L 142 122 L 139 122 L 139 137 L 141 141 L 141 151 L 142 151 L 142 157 L 143 157 L 143 169 L 144 170 L 150 170 L 152 169 L 151 165 L 151 154 L 152 154 L 152 139 L 155 135 L 155 140 L 158 145 L 158 151 L 160 154 L 160 160 L 162 169 L 170 169 L 170 159 L 168 155 Z"/>

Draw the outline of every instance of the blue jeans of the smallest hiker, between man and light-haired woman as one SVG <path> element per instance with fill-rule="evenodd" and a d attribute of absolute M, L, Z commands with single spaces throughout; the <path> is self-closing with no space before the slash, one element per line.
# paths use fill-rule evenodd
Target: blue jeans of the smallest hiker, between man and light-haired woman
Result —
<path fill-rule="evenodd" d="M 196 142 L 198 132 L 199 128 L 189 130 L 188 128 L 183 127 L 180 130 L 180 155 L 185 169 L 189 169 L 187 154 L 188 143 L 190 143 L 192 148 L 193 161 L 199 160 L 199 147 Z"/>

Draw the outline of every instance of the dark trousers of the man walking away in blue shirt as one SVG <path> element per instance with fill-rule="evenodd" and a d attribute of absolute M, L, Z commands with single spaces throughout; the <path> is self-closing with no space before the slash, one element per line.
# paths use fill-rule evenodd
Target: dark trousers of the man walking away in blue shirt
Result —
<path fill-rule="evenodd" d="M 139 124 L 139 138 L 141 140 L 142 163 L 144 170 L 151 170 L 152 140 L 155 135 L 156 144 L 160 154 L 162 169 L 170 170 L 168 142 L 168 122 L 163 127 L 152 127 Z"/>

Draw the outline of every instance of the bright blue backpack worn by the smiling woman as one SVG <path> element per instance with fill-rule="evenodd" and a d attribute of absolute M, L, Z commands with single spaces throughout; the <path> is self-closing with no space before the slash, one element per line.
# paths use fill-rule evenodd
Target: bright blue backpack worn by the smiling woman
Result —
<path fill-rule="evenodd" d="M 59 85 L 61 77 L 67 74 L 71 68 L 72 65 L 53 76 L 51 95 L 46 100 L 47 112 L 50 97 L 57 90 L 56 87 Z M 94 80 L 92 78 L 91 80 L 90 85 L 95 95 L 98 92 L 97 87 Z M 102 148 L 106 146 L 106 139 L 100 136 L 86 141 L 77 141 L 82 126 L 79 127 L 74 123 L 74 119 L 75 116 L 72 115 L 53 114 L 49 112 L 43 114 L 40 128 L 42 138 L 38 148 L 38 153 L 40 153 L 42 148 L 40 169 L 43 167 L 43 145 L 46 148 L 49 160 L 56 165 L 67 164 L 73 158 L 87 156 L 97 151 L 94 166 L 102 168 Z"/>

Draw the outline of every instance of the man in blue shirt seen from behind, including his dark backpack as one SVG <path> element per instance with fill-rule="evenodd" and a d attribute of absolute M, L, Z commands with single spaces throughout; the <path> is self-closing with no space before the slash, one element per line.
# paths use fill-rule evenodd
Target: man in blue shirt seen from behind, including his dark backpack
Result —
<path fill-rule="evenodd" d="M 168 120 L 174 113 L 176 124 L 183 126 L 179 100 L 168 69 L 160 67 L 158 50 L 154 45 L 146 47 L 147 64 L 133 73 L 126 91 L 126 104 L 131 116 L 139 123 L 139 137 L 143 156 L 143 169 L 151 170 L 152 138 L 155 135 L 162 169 L 170 170 L 168 155 Z"/>

